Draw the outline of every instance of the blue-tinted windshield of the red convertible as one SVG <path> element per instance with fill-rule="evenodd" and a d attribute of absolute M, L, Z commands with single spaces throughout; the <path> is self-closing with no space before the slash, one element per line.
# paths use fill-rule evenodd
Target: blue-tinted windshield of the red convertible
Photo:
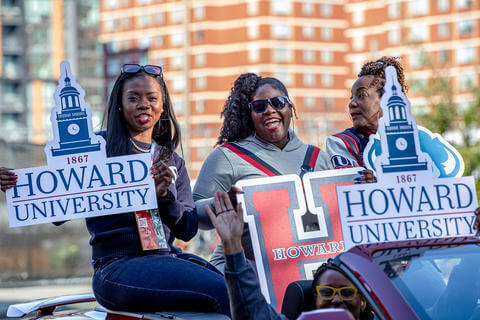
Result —
<path fill-rule="evenodd" d="M 373 258 L 420 319 L 480 319 L 480 244 L 381 250 Z"/>

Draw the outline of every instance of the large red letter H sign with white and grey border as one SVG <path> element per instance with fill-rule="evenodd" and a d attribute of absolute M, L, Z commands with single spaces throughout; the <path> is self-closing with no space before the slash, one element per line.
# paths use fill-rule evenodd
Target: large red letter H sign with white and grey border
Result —
<path fill-rule="evenodd" d="M 357 176 L 358 169 L 350 168 L 237 184 L 262 293 L 277 310 L 288 284 L 312 279 L 323 262 L 343 251 L 336 187 Z"/>

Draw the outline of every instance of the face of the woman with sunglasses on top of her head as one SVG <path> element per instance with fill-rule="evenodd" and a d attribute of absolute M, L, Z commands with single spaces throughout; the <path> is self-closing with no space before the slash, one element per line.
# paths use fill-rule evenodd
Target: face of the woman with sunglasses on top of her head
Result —
<path fill-rule="evenodd" d="M 126 80 L 122 112 L 131 137 L 151 143 L 153 127 L 163 112 L 162 91 L 157 80 L 146 75 Z"/>

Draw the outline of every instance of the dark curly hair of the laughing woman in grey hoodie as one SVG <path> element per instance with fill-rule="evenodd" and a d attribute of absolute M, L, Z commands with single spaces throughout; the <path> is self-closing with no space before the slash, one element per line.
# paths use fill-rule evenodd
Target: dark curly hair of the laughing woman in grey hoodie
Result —
<path fill-rule="evenodd" d="M 252 101 L 252 97 L 257 90 L 266 84 L 288 97 L 287 88 L 276 78 L 262 78 L 255 73 L 244 73 L 235 80 L 230 90 L 230 96 L 225 101 L 223 111 L 220 114 L 224 119 L 216 145 L 238 142 L 255 133 L 248 103 Z M 297 117 L 293 104 L 291 108 L 295 117 Z"/>

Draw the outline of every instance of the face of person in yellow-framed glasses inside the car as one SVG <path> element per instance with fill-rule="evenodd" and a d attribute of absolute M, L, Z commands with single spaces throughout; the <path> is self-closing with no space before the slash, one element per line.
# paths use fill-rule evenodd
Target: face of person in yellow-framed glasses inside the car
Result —
<path fill-rule="evenodd" d="M 316 285 L 320 286 L 330 286 L 333 288 L 342 288 L 342 287 L 352 287 L 353 283 L 350 282 L 343 274 L 338 271 L 327 269 L 325 270 L 318 279 Z M 356 294 L 355 299 L 352 301 L 342 301 L 338 296 L 338 293 L 335 293 L 332 300 L 323 300 L 318 297 L 315 293 L 315 307 L 317 309 L 323 308 L 342 308 L 350 311 L 355 319 L 360 318 L 361 310 L 366 307 L 365 299 L 359 294 Z"/>

